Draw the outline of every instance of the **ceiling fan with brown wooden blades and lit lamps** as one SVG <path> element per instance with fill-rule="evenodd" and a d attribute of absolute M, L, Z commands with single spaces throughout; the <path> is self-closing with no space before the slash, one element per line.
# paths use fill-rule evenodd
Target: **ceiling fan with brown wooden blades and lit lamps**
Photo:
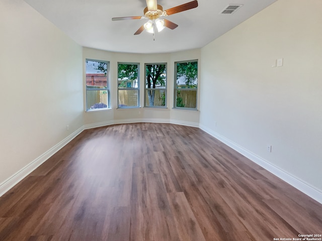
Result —
<path fill-rule="evenodd" d="M 153 33 L 156 29 L 157 32 L 162 31 L 165 27 L 169 29 L 175 29 L 178 27 L 177 24 L 167 20 L 161 19 L 160 17 L 169 16 L 172 14 L 177 14 L 183 11 L 187 11 L 189 9 L 194 9 L 198 7 L 198 1 L 192 1 L 186 4 L 179 5 L 177 7 L 168 9 L 163 11 L 163 7 L 161 5 L 157 5 L 156 0 L 146 0 L 147 7 L 143 10 L 144 16 L 134 16 L 134 17 L 119 17 L 112 18 L 112 21 L 118 20 L 129 20 L 129 19 L 149 19 L 144 25 L 142 25 L 134 35 L 138 35 L 143 32 L 145 29 L 149 33 Z"/>

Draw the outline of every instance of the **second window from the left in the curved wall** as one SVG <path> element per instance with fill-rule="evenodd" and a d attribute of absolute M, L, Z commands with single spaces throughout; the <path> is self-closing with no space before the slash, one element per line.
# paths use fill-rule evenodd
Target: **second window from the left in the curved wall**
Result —
<path fill-rule="evenodd" d="M 139 107 L 139 64 L 118 63 L 118 106 Z"/>

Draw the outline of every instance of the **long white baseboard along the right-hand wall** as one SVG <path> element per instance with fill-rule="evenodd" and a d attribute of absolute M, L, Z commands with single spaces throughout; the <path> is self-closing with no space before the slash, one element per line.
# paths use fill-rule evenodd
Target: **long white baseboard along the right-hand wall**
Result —
<path fill-rule="evenodd" d="M 254 153 L 244 149 L 243 147 L 240 147 L 236 143 L 228 140 L 227 138 L 219 135 L 218 133 L 212 131 L 211 129 L 206 128 L 203 125 L 200 125 L 199 128 L 203 130 L 204 132 L 208 133 L 212 137 L 218 139 L 225 145 L 229 146 L 230 148 L 234 149 L 241 155 L 247 157 L 251 161 L 255 162 L 256 164 L 260 165 L 267 171 L 271 172 L 275 176 L 281 178 L 283 181 L 287 182 L 288 184 L 292 185 L 296 189 L 300 190 L 301 192 L 305 193 L 309 197 L 313 198 L 314 200 L 318 201 L 322 204 L 322 192 L 320 190 L 317 190 L 316 188 L 310 186 L 309 184 L 303 182 L 302 180 L 292 176 L 291 174 L 283 171 L 282 169 L 278 168 L 277 166 L 269 163 L 268 161 L 262 159 L 261 157 L 258 157 Z"/>

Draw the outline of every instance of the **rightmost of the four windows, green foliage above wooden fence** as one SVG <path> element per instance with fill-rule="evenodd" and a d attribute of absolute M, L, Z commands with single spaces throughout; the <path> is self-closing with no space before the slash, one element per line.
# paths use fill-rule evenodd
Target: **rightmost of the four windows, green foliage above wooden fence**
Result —
<path fill-rule="evenodd" d="M 175 108 L 197 109 L 198 61 L 175 62 Z"/>

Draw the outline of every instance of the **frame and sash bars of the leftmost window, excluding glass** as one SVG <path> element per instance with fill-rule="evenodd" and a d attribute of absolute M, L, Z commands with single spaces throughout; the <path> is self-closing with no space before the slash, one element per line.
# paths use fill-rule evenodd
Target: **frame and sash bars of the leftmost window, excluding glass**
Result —
<path fill-rule="evenodd" d="M 106 87 L 105 88 L 100 88 L 100 89 L 88 88 L 88 86 L 91 86 L 91 85 L 87 85 L 87 80 L 86 80 L 87 61 L 106 63 Z M 98 59 L 88 59 L 88 58 L 85 59 L 85 89 L 86 89 L 85 90 L 86 91 L 86 112 L 110 109 L 110 106 L 111 106 L 111 101 L 110 101 L 110 99 L 111 99 L 111 95 L 110 95 L 110 61 L 98 60 Z M 107 92 L 107 107 L 95 108 L 95 109 L 88 108 L 88 91 L 106 91 Z"/>

